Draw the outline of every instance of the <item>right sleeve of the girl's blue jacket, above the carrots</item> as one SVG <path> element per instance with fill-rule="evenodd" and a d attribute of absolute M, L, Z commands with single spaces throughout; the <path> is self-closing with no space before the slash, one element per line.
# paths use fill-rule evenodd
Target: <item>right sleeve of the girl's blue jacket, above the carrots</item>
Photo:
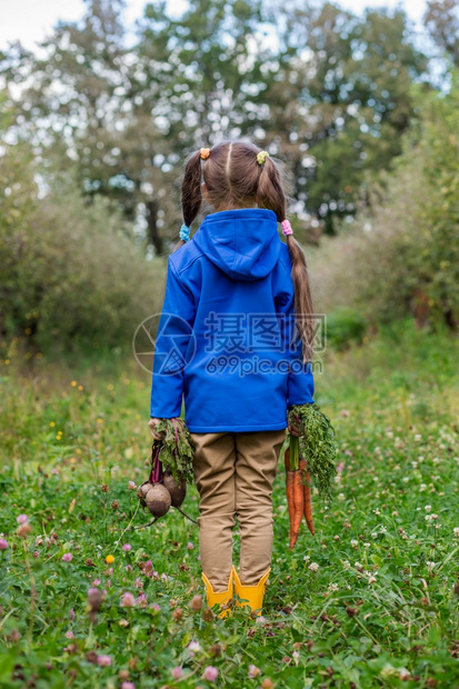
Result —
<path fill-rule="evenodd" d="M 283 355 L 289 361 L 287 408 L 292 405 L 312 405 L 315 380 L 311 363 L 303 363 L 302 361 L 301 338 L 295 327 L 295 292 L 290 273 L 283 280 L 280 293 L 276 299 L 276 310 L 282 333 Z"/>

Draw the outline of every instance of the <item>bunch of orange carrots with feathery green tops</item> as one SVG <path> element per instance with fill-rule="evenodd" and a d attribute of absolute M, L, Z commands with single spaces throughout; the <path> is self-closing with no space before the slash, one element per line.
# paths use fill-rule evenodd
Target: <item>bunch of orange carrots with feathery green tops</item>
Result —
<path fill-rule="evenodd" d="M 290 433 L 285 452 L 291 550 L 298 540 L 303 516 L 309 531 L 315 535 L 311 478 L 320 497 L 332 498 L 337 448 L 330 419 L 316 403 L 293 406 L 289 412 L 289 426 L 300 432 L 299 437 Z"/>

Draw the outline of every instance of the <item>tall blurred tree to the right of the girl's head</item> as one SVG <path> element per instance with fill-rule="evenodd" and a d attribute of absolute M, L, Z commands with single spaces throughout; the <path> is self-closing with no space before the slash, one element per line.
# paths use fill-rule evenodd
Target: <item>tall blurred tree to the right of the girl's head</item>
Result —
<path fill-rule="evenodd" d="M 415 112 L 409 87 L 427 60 L 405 12 L 360 18 L 329 2 L 288 10 L 282 44 L 279 73 L 263 93 L 266 138 L 289 159 L 293 197 L 333 232 L 335 218 L 353 214 L 368 173 L 400 153 Z"/>

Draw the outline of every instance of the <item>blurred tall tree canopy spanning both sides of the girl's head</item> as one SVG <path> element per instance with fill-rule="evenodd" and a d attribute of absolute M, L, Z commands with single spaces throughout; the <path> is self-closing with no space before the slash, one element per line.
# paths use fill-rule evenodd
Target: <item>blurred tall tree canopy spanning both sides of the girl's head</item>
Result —
<path fill-rule="evenodd" d="M 58 151 L 84 194 L 141 217 L 157 254 L 177 240 L 171 189 L 184 158 L 224 138 L 250 137 L 278 156 L 303 232 L 308 213 L 333 232 L 336 218 L 353 214 L 365 176 L 399 154 L 426 58 L 401 10 L 272 8 L 190 0 L 178 16 L 150 2 L 132 42 L 122 2 L 88 1 L 39 54 L 16 47 L 0 58 L 22 84 L 10 94 L 22 136 Z"/>

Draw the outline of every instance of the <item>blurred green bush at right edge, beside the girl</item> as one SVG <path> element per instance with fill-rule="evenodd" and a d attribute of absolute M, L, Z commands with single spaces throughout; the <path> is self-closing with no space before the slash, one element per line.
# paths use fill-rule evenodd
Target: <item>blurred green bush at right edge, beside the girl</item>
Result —
<path fill-rule="evenodd" d="M 322 310 L 350 306 L 372 323 L 407 314 L 419 327 L 459 323 L 458 76 L 449 93 L 418 100 L 417 127 L 370 208 L 312 260 Z"/>

